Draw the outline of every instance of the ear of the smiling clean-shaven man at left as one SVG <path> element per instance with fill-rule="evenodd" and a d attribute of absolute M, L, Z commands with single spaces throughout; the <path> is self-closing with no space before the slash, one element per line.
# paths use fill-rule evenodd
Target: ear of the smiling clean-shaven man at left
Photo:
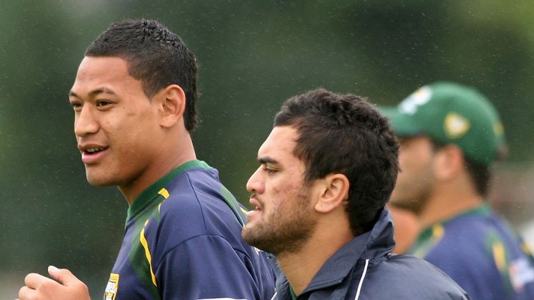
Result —
<path fill-rule="evenodd" d="M 159 93 L 162 127 L 172 127 L 184 117 L 186 93 L 179 85 L 168 85 Z"/>

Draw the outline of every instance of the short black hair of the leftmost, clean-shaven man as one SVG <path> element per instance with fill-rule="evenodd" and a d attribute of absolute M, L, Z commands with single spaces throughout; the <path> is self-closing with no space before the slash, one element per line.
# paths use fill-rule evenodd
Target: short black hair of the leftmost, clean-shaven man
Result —
<path fill-rule="evenodd" d="M 143 84 L 147 97 L 171 84 L 186 94 L 184 124 L 192 131 L 197 124 L 197 63 L 178 35 L 149 19 L 111 24 L 86 49 L 86 56 L 111 56 L 127 61 L 129 74 Z"/>

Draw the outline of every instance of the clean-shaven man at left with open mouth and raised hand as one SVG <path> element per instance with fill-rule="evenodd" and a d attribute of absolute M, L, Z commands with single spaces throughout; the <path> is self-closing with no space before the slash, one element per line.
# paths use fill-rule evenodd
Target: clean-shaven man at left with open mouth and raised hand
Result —
<path fill-rule="evenodd" d="M 86 50 L 70 90 L 92 185 L 118 185 L 126 233 L 104 299 L 270 299 L 264 253 L 241 240 L 244 214 L 197 160 L 196 63 L 152 20 L 113 24 Z M 243 215 L 242 215 L 243 214 Z M 67 269 L 29 274 L 20 299 L 89 299 Z"/>

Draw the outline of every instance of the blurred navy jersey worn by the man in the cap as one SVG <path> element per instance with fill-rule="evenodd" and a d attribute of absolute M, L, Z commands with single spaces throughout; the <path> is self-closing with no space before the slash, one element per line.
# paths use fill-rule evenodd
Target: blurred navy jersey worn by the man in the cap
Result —
<path fill-rule="evenodd" d="M 487 205 L 430 226 L 410 254 L 442 269 L 471 299 L 534 299 L 532 255 Z"/>

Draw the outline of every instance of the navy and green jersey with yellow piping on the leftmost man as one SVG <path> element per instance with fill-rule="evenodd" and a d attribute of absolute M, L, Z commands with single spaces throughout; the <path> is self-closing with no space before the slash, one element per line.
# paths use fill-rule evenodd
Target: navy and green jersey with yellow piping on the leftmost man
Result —
<path fill-rule="evenodd" d="M 181 165 L 131 204 L 104 299 L 270 299 L 273 271 L 241 239 L 244 218 L 216 169 Z"/>

